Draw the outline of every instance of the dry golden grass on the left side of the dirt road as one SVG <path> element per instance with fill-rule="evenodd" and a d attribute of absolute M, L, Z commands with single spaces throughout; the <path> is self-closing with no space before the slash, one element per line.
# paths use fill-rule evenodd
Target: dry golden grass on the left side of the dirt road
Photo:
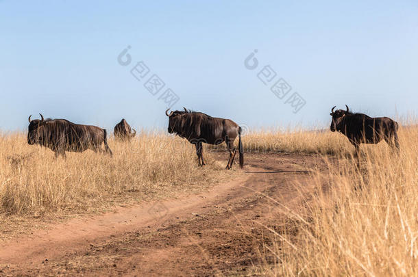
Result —
<path fill-rule="evenodd" d="M 199 168 L 194 147 L 169 135 L 109 144 L 112 158 L 87 150 L 56 159 L 48 148 L 29 146 L 25 133 L 1 134 L 1 215 L 85 213 L 204 189 L 232 174 L 210 157 Z"/>

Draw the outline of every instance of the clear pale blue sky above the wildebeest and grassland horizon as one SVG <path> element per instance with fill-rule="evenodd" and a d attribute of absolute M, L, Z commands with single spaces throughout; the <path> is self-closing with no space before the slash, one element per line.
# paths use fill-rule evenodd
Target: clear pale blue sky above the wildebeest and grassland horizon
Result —
<path fill-rule="evenodd" d="M 165 128 L 167 88 L 180 97 L 174 109 L 250 127 L 322 126 L 345 103 L 371 116 L 415 113 L 417 1 L 289 2 L 0 1 L 0 129 L 26 129 L 39 112 Z M 132 63 L 121 66 L 128 45 Z M 150 72 L 138 81 L 140 61 Z M 265 85 L 268 65 L 276 77 Z M 153 74 L 165 83 L 155 96 L 144 87 Z M 270 90 L 280 78 L 292 88 L 283 99 Z M 285 103 L 294 92 L 306 101 L 297 114 Z"/>

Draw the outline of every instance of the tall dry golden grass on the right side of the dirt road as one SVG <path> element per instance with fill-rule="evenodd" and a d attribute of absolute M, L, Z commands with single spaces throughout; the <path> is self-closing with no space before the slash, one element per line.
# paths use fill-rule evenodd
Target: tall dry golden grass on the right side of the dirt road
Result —
<path fill-rule="evenodd" d="M 273 245 L 265 246 L 261 254 L 265 266 L 256 272 L 268 276 L 418 276 L 418 128 L 401 129 L 399 137 L 399 157 L 384 143 L 362 146 L 358 172 L 351 155 L 345 155 L 354 148 L 343 135 L 288 135 L 281 150 L 342 155 L 332 161 L 323 156 L 330 170 L 312 174 L 316 189 L 306 196 L 306 213 L 291 214 L 292 224 L 273 232 Z M 304 194 L 301 184 L 295 187 Z M 278 202 L 277 208 L 289 215 L 283 204 Z M 267 256 L 273 256 L 273 264 Z"/>

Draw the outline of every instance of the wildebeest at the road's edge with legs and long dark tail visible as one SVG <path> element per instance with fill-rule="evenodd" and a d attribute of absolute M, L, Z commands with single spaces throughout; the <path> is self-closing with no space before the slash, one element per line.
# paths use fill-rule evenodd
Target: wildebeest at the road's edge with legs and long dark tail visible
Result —
<path fill-rule="evenodd" d="M 186 108 L 184 108 L 184 111 L 171 111 L 170 114 L 167 114 L 167 111 L 165 111 L 165 114 L 169 117 L 169 133 L 175 133 L 190 143 L 195 144 L 199 165 L 204 166 L 206 164 L 203 155 L 203 142 L 214 145 L 225 142 L 230 152 L 230 159 L 228 159 L 226 169 L 232 168 L 236 155 L 234 140 L 238 136 L 239 164 L 241 168 L 244 167 L 241 127 L 234 121 L 224 118 L 212 118 L 212 116 L 207 114 L 189 111 Z"/>

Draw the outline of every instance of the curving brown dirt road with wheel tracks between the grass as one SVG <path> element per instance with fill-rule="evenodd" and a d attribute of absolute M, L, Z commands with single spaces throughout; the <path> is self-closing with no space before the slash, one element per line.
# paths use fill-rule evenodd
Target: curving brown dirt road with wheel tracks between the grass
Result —
<path fill-rule="evenodd" d="M 225 160 L 225 153 L 214 156 Z M 246 163 L 237 179 L 204 194 L 71 220 L 2 243 L 0 274 L 245 274 L 260 263 L 257 248 L 269 243 L 267 228 L 278 230 L 286 220 L 270 198 L 301 211 L 300 188 L 312 189 L 309 169 L 325 169 L 321 159 L 309 155 L 248 154 Z"/>

